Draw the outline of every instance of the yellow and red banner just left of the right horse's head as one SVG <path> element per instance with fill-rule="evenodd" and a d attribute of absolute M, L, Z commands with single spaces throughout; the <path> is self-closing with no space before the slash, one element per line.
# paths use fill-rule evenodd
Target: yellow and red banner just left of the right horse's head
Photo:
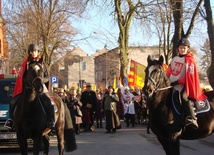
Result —
<path fill-rule="evenodd" d="M 130 72 L 129 72 L 129 86 L 130 87 L 140 87 L 143 88 L 144 86 L 144 79 L 145 79 L 145 70 L 146 66 L 131 60 L 130 64 Z"/>

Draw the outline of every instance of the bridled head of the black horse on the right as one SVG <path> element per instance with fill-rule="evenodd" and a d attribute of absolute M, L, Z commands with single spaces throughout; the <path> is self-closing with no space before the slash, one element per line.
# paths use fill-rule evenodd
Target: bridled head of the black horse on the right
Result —
<path fill-rule="evenodd" d="M 159 60 L 153 60 L 150 55 L 147 58 L 143 92 L 148 99 L 154 98 L 158 91 L 170 88 L 170 80 L 165 73 L 163 61 L 163 56 L 160 56 Z"/>

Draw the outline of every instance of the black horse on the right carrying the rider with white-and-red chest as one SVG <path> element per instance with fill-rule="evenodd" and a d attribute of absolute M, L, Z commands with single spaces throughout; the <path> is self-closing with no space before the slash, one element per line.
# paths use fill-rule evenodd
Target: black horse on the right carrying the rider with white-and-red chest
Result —
<path fill-rule="evenodd" d="M 183 117 L 176 113 L 172 105 L 172 87 L 163 68 L 163 56 L 159 60 L 147 58 L 145 85 L 151 130 L 163 146 L 167 155 L 180 154 L 180 139 L 194 140 L 209 136 L 214 131 L 214 92 L 207 92 L 211 108 L 197 114 L 198 129 L 183 125 Z"/>

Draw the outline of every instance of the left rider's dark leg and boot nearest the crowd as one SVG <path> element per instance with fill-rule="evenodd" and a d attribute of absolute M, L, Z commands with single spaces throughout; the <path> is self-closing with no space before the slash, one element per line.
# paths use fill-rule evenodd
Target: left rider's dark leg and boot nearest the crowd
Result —
<path fill-rule="evenodd" d="M 45 93 L 42 95 L 41 101 L 42 101 L 43 107 L 45 108 L 45 112 L 47 116 L 47 126 L 42 134 L 46 135 L 55 126 L 54 105 L 52 104 L 50 98 Z"/>

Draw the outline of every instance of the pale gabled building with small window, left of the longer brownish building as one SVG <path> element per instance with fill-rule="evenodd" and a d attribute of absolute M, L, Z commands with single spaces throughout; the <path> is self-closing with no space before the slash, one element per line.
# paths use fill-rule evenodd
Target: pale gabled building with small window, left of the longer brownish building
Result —
<path fill-rule="evenodd" d="M 51 67 L 51 75 L 59 79 L 58 87 L 70 89 L 82 88 L 85 83 L 94 84 L 94 59 L 80 48 L 74 48 L 55 62 Z"/>

